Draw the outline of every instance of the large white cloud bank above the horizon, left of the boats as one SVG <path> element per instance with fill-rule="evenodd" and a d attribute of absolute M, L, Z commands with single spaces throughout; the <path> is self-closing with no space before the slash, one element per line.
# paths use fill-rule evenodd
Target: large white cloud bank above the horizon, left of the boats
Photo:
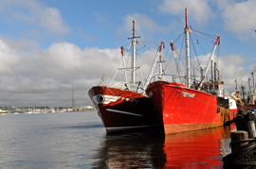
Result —
<path fill-rule="evenodd" d="M 1 106 L 70 106 L 72 78 L 77 102 L 91 105 L 87 91 L 100 82 L 117 53 L 69 42 L 45 50 L 20 52 L 16 47 L 16 42 L 0 39 Z"/>

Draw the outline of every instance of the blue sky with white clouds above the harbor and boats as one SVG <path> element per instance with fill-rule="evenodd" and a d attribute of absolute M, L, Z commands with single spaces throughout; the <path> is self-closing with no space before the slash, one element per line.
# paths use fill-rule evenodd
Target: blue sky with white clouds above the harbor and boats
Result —
<path fill-rule="evenodd" d="M 184 28 L 185 8 L 192 28 L 221 37 L 225 89 L 234 92 L 235 79 L 247 85 L 256 0 L 0 0 L 0 107 L 70 107 L 72 84 L 76 106 L 92 106 L 87 93 L 132 36 L 132 21 L 144 42 L 168 44 Z"/>

